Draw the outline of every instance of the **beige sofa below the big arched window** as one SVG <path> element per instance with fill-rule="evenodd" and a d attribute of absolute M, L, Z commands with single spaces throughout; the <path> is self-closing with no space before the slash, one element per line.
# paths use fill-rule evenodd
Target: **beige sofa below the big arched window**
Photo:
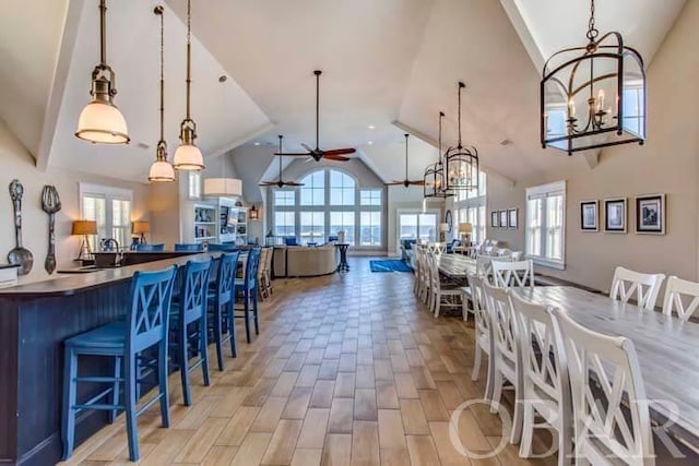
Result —
<path fill-rule="evenodd" d="M 329 275 L 337 268 L 337 252 L 333 246 L 319 248 L 274 248 L 275 277 L 312 277 Z"/>

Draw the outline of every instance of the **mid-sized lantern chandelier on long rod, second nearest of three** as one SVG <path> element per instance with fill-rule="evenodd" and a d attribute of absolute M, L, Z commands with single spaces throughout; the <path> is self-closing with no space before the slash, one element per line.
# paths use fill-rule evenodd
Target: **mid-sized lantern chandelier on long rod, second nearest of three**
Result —
<path fill-rule="evenodd" d="M 478 189 L 478 151 L 464 147 L 461 142 L 461 91 L 466 85 L 459 82 L 459 141 L 445 154 L 445 175 L 449 192 Z"/>

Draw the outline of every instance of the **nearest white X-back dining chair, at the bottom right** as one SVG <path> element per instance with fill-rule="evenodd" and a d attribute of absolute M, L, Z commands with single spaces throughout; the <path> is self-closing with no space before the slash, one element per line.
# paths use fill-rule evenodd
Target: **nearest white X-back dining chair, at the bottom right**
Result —
<path fill-rule="evenodd" d="M 572 395 L 577 465 L 655 464 L 649 402 L 633 343 L 554 310 Z"/>

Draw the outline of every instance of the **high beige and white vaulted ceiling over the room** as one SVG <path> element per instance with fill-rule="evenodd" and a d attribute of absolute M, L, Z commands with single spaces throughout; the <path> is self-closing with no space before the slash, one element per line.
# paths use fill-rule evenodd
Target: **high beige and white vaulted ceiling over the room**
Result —
<path fill-rule="evenodd" d="M 174 153 L 183 116 L 186 0 L 165 3 L 166 136 Z M 358 147 L 358 157 L 383 180 L 404 177 L 404 131 L 425 142 L 414 139 L 411 153 L 410 176 L 419 177 L 436 156 L 430 144 L 439 110 L 447 113 L 445 143 L 453 143 L 460 80 L 466 83 L 463 139 L 477 145 L 486 169 L 519 180 L 559 164 L 584 164 L 541 148 L 537 115 L 543 59 L 584 41 L 587 0 L 192 3 L 192 105 L 200 144 L 209 156 L 238 147 L 236 166 L 244 159 L 250 166 L 239 170 L 246 183 L 274 176 L 276 134 L 286 135 L 288 150 L 315 144 L 315 69 L 324 71 L 321 147 Z M 597 25 L 621 32 L 648 64 L 684 3 L 599 1 Z M 100 174 L 108 167 L 111 176 L 144 180 L 157 140 L 155 4 L 108 2 L 117 104 L 134 143 L 96 147 L 73 132 L 97 59 L 97 1 L 3 2 L 0 57 L 11 65 L 0 71 L 0 118 L 39 166 Z M 38 34 L 29 41 L 25 31 Z M 220 83 L 220 75 L 228 80 Z"/>

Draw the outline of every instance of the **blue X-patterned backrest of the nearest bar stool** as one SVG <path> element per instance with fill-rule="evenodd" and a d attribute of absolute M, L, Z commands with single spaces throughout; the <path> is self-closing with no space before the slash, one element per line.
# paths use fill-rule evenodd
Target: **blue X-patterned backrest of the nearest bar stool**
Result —
<path fill-rule="evenodd" d="M 170 297 L 176 266 L 158 272 L 137 272 L 131 279 L 131 307 L 127 314 L 130 354 L 167 340 Z"/>

